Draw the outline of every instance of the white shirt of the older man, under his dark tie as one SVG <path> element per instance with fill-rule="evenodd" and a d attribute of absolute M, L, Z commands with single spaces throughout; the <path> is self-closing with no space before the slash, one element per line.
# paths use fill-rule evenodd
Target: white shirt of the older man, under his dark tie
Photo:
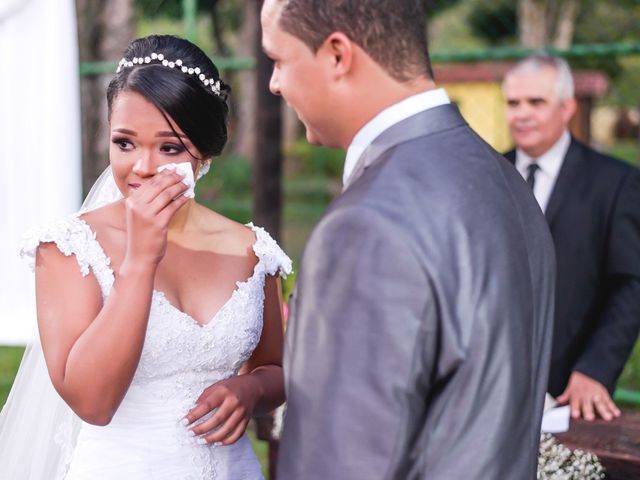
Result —
<path fill-rule="evenodd" d="M 547 210 L 553 186 L 556 184 L 558 173 L 560 173 L 570 144 L 571 135 L 568 130 L 565 130 L 558 141 L 538 158 L 531 158 L 519 148 L 516 149 L 516 168 L 522 178 L 527 178 L 527 169 L 531 163 L 536 162 L 540 167 L 535 174 L 533 194 L 543 212 Z"/>

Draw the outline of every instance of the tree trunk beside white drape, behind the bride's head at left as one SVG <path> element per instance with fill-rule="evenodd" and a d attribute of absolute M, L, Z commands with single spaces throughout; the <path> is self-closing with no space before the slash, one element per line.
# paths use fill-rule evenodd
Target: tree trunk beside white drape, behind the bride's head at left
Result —
<path fill-rule="evenodd" d="M 133 0 L 77 0 L 76 9 L 80 61 L 120 60 L 134 35 Z M 112 76 L 84 76 L 80 82 L 82 186 L 85 194 L 109 163 L 106 91 Z"/>

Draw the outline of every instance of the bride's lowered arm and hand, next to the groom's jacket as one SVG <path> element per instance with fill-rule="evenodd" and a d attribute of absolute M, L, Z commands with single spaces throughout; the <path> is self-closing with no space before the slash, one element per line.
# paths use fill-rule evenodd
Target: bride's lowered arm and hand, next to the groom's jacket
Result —
<path fill-rule="evenodd" d="M 281 291 L 280 277 L 267 277 L 264 325 L 253 355 L 240 375 L 205 389 L 196 406 L 185 417 L 186 423 L 192 424 L 217 409 L 211 418 L 191 428 L 201 436 L 201 442 L 234 443 L 245 432 L 253 415 L 270 412 L 284 402 Z"/>

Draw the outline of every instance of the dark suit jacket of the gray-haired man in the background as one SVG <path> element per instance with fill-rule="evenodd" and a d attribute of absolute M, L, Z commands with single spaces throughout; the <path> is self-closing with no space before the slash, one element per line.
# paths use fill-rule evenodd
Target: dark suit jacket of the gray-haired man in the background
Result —
<path fill-rule="evenodd" d="M 640 327 L 640 171 L 572 139 L 546 217 L 558 262 L 549 392 L 574 370 L 613 392 Z"/>

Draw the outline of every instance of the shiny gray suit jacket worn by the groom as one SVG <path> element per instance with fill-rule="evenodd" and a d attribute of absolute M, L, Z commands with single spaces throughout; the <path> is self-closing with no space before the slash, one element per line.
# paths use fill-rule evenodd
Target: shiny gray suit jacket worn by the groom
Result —
<path fill-rule="evenodd" d="M 531 191 L 452 105 L 355 176 L 303 256 L 278 479 L 535 478 L 555 272 Z"/>

